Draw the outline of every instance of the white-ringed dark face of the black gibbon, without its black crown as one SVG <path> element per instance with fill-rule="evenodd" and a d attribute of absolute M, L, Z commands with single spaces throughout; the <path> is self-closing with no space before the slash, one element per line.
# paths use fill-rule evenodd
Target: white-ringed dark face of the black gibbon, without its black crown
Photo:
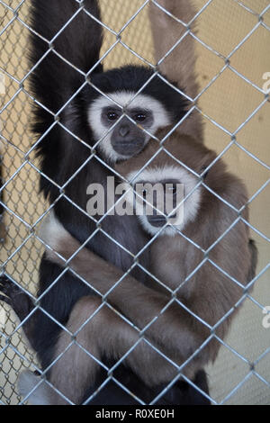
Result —
<path fill-rule="evenodd" d="M 99 97 L 89 108 L 94 137 L 101 139 L 98 147 L 112 162 L 139 154 L 158 128 L 171 123 L 162 103 L 150 95 L 139 94 L 134 98 L 135 95 L 113 93 L 113 101 Z"/>

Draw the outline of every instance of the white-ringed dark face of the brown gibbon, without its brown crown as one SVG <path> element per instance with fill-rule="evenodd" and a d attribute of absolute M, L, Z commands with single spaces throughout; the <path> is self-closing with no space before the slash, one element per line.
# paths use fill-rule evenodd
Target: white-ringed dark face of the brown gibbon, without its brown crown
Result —
<path fill-rule="evenodd" d="M 178 230 L 196 219 L 202 189 L 199 179 L 181 166 L 147 168 L 134 179 L 127 175 L 132 190 L 127 201 L 133 202 L 143 228 L 150 234 L 175 236 Z M 162 229 L 160 231 L 160 229 Z"/>

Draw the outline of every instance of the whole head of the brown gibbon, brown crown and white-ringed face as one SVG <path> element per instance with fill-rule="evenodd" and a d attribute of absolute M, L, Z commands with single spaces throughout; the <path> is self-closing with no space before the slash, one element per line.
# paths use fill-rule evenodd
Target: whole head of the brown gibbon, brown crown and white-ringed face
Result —
<path fill-rule="evenodd" d="M 157 132 L 158 139 L 165 136 L 166 130 Z M 219 161 L 211 167 L 215 158 L 195 139 L 173 133 L 162 148 L 151 139 L 139 156 L 116 164 L 125 181 L 125 201 L 150 235 L 175 236 L 197 220 L 211 196 L 202 182 L 222 192 L 226 166 Z"/>

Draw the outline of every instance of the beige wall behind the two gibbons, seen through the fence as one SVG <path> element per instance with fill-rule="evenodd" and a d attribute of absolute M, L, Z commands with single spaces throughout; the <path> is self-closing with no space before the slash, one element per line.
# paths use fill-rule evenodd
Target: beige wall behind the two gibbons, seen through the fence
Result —
<path fill-rule="evenodd" d="M 13 6 L 18 3 L 15 0 L 9 2 Z M 111 26 L 114 31 L 119 31 L 123 23 L 127 22 L 143 3 L 142 0 L 118 0 L 117 2 L 101 0 L 103 21 Z M 205 0 L 194 2 L 198 10 L 205 3 Z M 259 14 L 269 4 L 269 1 L 242 0 L 242 4 Z M 23 5 L 20 16 L 27 22 L 27 2 Z M 12 14 L 6 14 L 4 6 L 0 5 L 2 25 L 7 24 L 11 18 Z M 270 12 L 266 14 L 265 22 L 270 26 Z M 256 24 L 257 16 L 248 13 L 236 1 L 213 0 L 212 4 L 198 18 L 199 38 L 212 49 L 226 56 Z M 4 31 L 0 41 L 0 66 L 17 79 L 21 79 L 27 72 L 26 36 L 27 30 L 23 29 L 20 23 L 15 22 Z M 147 8 L 123 31 L 122 40 L 139 55 L 153 61 Z M 103 52 L 114 41 L 112 34 L 106 31 Z M 230 58 L 232 67 L 238 69 L 238 72 L 260 87 L 264 84 L 263 74 L 267 71 L 270 72 L 269 44 L 270 31 L 260 27 Z M 220 72 L 220 69 L 224 66 L 224 61 L 199 43 L 197 43 L 197 54 L 198 78 L 201 87 L 204 88 Z M 122 46 L 113 49 L 104 59 L 105 67 L 115 67 L 127 62 L 138 63 L 139 59 L 134 58 Z M 1 116 L 4 127 L 2 133 L 6 139 L 3 143 L 5 180 L 14 175 L 16 170 L 23 165 L 23 156 L 33 142 L 28 129 L 30 121 L 29 97 L 23 91 L 18 93 L 19 85 L 17 83 L 9 78 L 6 78 L 6 81 L 6 94 L 0 95 L 1 107 L 11 99 L 13 101 L 7 104 Z M 25 89 L 27 89 L 27 82 Z M 14 97 L 15 93 L 17 94 Z M 200 107 L 205 115 L 211 116 L 221 126 L 227 130 L 235 131 L 263 100 L 263 94 L 248 85 L 231 70 L 226 69 L 217 81 L 202 94 Z M 266 103 L 237 134 L 238 143 L 268 166 L 270 166 L 269 133 L 270 104 Z M 207 145 L 219 153 L 229 144 L 229 136 L 206 118 L 205 134 Z M 230 148 L 224 158 L 229 168 L 246 182 L 250 197 L 257 193 L 269 178 L 269 170 L 266 167 L 257 163 L 252 157 L 248 157 L 246 152 L 236 146 Z M 31 155 L 31 160 L 34 161 L 33 155 Z M 250 222 L 266 237 L 270 235 L 269 198 L 268 186 L 250 205 Z M 0 259 L 3 263 L 31 233 L 23 221 L 29 225 L 34 224 L 46 207 L 38 196 L 37 173 L 29 164 L 23 166 L 19 174 L 15 175 L 13 181 L 7 185 L 5 201 L 11 212 L 5 214 L 8 238 L 0 253 Z M 252 237 L 257 240 L 259 247 L 258 271 L 261 271 L 269 263 L 269 243 L 255 232 L 252 233 Z M 39 242 L 29 238 L 6 265 L 8 272 L 14 276 L 14 279 L 31 289 L 31 292 L 35 291 L 37 263 L 41 250 Z M 269 291 L 268 270 L 265 275 L 258 279 L 253 297 L 263 306 L 270 305 Z M 263 328 L 262 319 L 262 311 L 254 302 L 247 300 L 227 339 L 229 346 L 236 349 L 250 362 L 256 360 L 257 356 L 262 354 L 270 344 L 270 329 Z M 14 317 L 12 317 L 12 320 L 14 320 Z M 14 325 L 11 323 L 7 331 L 12 328 L 14 328 Z M 25 353 L 26 350 L 20 342 L 20 338 L 14 337 L 13 343 L 21 351 L 23 348 L 22 352 Z M 4 354 L 6 354 L 4 358 L 5 373 L 0 374 L 0 386 L 5 386 L 2 401 L 7 402 L 12 397 L 12 401 L 16 402 L 17 396 L 14 392 L 16 373 L 14 369 L 21 370 L 22 365 L 26 365 L 26 361 L 19 359 L 11 348 L 8 348 Z M 266 380 L 270 380 L 270 355 L 257 365 L 256 370 Z M 222 401 L 247 373 L 248 365 L 228 348 L 222 347 L 216 364 L 209 368 L 212 398 L 215 401 Z M 6 380 L 6 374 L 8 374 L 8 380 Z M 226 403 L 266 404 L 269 402 L 270 389 L 258 379 L 257 375 L 253 374 Z"/>

